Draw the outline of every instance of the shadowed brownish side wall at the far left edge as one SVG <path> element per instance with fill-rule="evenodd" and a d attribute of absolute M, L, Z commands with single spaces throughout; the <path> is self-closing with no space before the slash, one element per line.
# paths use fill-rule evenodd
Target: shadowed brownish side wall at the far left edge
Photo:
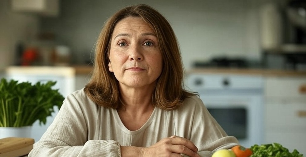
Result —
<path fill-rule="evenodd" d="M 18 41 L 30 42 L 39 28 L 38 17 L 14 13 L 10 0 L 0 0 L 0 70 L 12 65 Z"/>

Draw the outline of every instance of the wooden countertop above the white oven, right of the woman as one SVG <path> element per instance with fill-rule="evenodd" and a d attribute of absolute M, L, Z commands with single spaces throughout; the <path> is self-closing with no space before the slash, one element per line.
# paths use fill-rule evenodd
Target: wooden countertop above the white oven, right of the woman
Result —
<path fill-rule="evenodd" d="M 295 76 L 306 77 L 306 71 L 292 71 L 292 70 L 268 70 L 268 69 L 230 69 L 230 68 L 197 68 L 186 71 L 190 73 L 225 73 L 225 74 L 237 74 L 237 75 L 261 75 L 265 77 L 275 76 Z"/>

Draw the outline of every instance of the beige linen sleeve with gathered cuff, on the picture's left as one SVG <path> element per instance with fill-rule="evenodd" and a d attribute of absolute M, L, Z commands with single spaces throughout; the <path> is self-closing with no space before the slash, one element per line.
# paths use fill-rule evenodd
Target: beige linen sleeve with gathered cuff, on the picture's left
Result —
<path fill-rule="evenodd" d="M 80 95 L 77 95 L 77 98 L 75 95 L 69 95 L 65 99 L 53 123 L 40 141 L 34 144 L 29 157 L 121 156 L 120 144 L 117 141 L 91 140 L 95 136 L 97 107 L 87 103 L 90 100 Z"/>

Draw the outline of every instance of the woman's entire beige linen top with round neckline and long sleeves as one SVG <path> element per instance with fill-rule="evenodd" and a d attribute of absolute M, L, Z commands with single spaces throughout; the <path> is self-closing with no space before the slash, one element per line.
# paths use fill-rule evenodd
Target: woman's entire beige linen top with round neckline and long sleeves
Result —
<path fill-rule="evenodd" d="M 96 105 L 82 89 L 67 96 L 28 156 L 121 157 L 120 146 L 150 147 L 172 135 L 191 140 L 201 157 L 238 145 L 237 139 L 226 135 L 197 96 L 187 98 L 172 111 L 155 107 L 139 130 L 130 131 L 115 109 Z"/>

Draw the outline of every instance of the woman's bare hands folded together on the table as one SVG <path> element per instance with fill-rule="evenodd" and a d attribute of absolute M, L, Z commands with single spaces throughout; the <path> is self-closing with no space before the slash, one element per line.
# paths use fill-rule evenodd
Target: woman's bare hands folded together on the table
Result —
<path fill-rule="evenodd" d="M 186 138 L 171 136 L 163 138 L 151 147 L 143 148 L 143 156 L 182 157 L 185 154 L 190 157 L 200 157 L 196 152 L 198 148 Z"/>

